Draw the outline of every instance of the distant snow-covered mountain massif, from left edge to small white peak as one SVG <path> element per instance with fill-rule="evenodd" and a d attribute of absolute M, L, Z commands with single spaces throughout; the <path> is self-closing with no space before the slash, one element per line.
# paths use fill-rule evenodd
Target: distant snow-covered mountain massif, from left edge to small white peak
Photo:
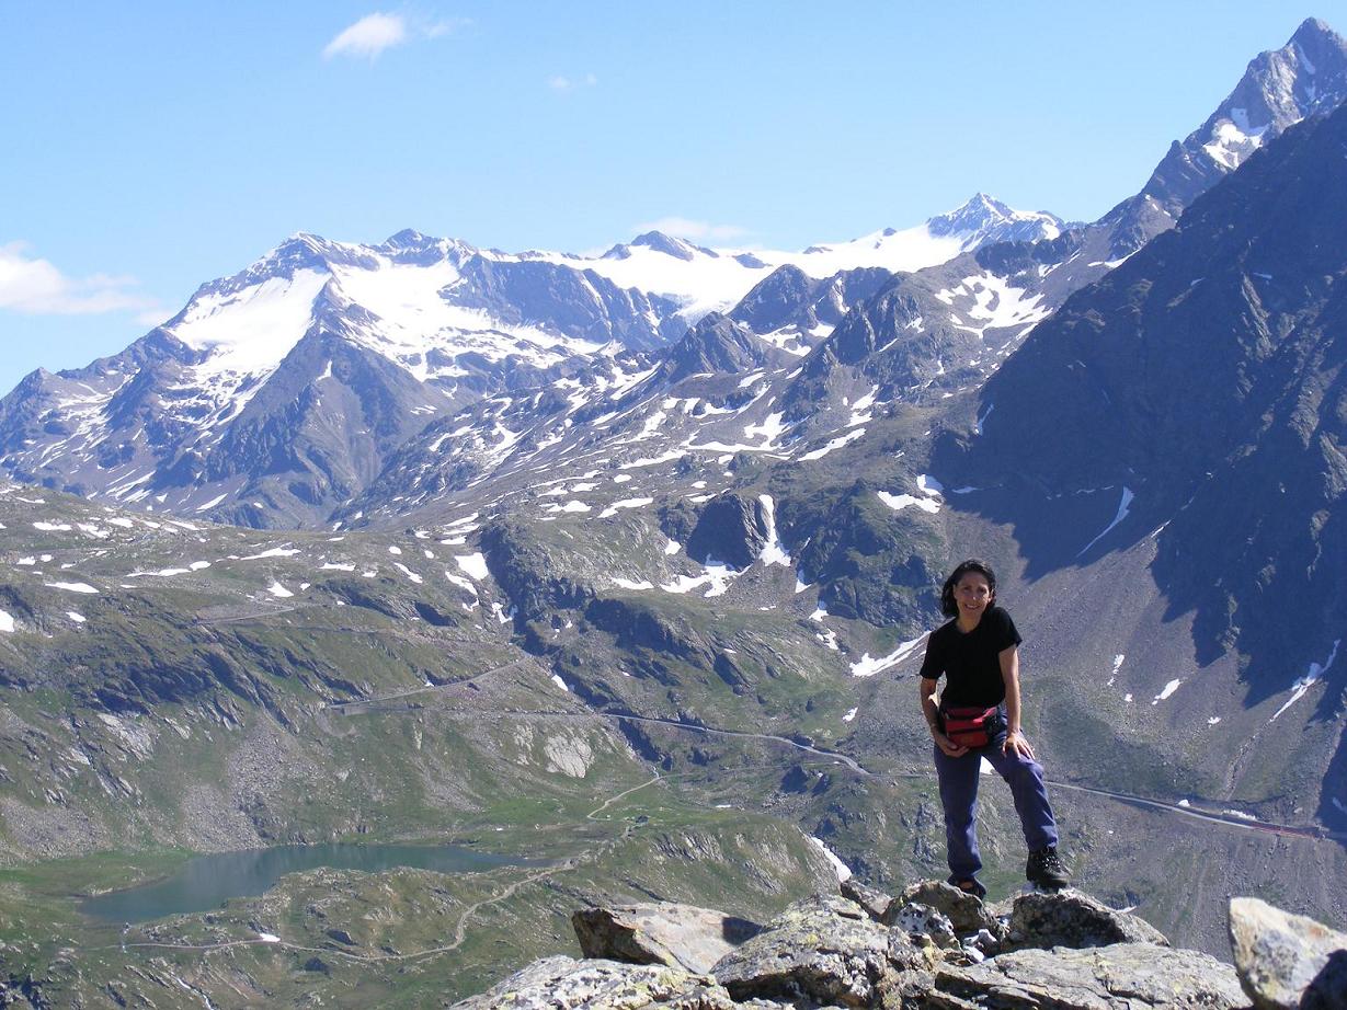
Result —
<path fill-rule="evenodd" d="M 143 508 L 318 523 L 436 417 L 562 381 L 606 393 L 641 353 L 733 308 L 777 269 L 819 288 L 816 308 L 799 307 L 807 327 L 772 327 L 801 354 L 892 271 L 1060 228 L 979 194 L 927 225 L 799 253 L 661 233 L 594 257 L 411 230 L 373 246 L 299 234 L 203 285 L 123 354 L 28 376 L 0 403 L 3 465 Z M 865 280 L 850 280 L 858 271 Z"/>

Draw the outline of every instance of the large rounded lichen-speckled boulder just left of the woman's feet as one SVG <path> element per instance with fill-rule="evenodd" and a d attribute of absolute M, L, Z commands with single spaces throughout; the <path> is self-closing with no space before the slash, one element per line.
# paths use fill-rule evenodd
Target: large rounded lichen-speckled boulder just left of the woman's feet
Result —
<path fill-rule="evenodd" d="M 788 908 L 713 970 L 730 995 L 897 1007 L 929 983 L 936 957 L 841 897 Z"/>

